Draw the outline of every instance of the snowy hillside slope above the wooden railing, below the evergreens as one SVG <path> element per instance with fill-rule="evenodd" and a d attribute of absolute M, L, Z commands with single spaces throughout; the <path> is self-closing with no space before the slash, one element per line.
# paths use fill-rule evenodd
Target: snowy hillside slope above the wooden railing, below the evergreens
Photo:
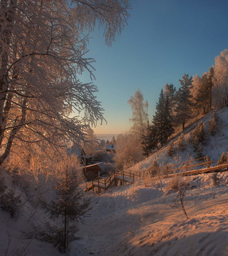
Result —
<path fill-rule="evenodd" d="M 208 125 L 211 116 L 213 113 L 216 112 L 217 116 L 219 116 L 219 128 L 216 132 L 216 135 L 211 136 Z M 194 152 L 194 148 L 192 146 L 192 143 L 189 143 L 189 138 L 191 136 L 191 133 L 194 131 L 194 129 L 197 127 L 197 124 L 200 123 L 200 121 L 203 121 L 205 124 L 205 132 L 206 132 L 206 143 L 203 144 L 203 155 L 208 156 L 211 158 L 212 161 L 214 161 L 214 165 L 216 162 L 218 162 L 218 159 L 221 157 L 222 152 L 228 151 L 228 108 L 220 108 L 219 110 L 212 110 L 210 113 L 208 113 L 206 116 L 203 116 L 198 121 L 194 122 L 194 124 L 189 125 L 184 132 L 184 138 L 186 140 L 186 148 L 185 150 L 179 151 L 176 149 L 175 153 L 172 157 L 169 157 L 167 154 L 168 151 L 168 145 L 164 146 L 163 148 L 160 148 L 159 151 L 152 154 L 152 156 L 146 158 L 144 161 L 138 163 L 137 165 L 131 167 L 132 170 L 143 170 L 148 168 L 150 165 L 152 165 L 152 162 L 154 159 L 157 160 L 160 166 L 168 165 L 170 163 L 178 163 L 178 162 L 184 162 L 189 159 L 197 159 L 197 154 Z M 176 145 L 178 138 L 181 134 L 177 135 L 173 141 L 174 145 Z"/>

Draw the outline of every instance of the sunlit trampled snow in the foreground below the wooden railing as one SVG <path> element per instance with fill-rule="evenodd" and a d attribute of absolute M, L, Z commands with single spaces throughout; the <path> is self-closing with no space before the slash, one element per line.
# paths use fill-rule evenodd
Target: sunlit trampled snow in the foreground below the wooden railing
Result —
<path fill-rule="evenodd" d="M 71 255 L 228 255 L 228 173 L 185 178 L 185 207 L 173 208 L 170 180 L 116 187 L 93 195 L 93 209 Z"/>

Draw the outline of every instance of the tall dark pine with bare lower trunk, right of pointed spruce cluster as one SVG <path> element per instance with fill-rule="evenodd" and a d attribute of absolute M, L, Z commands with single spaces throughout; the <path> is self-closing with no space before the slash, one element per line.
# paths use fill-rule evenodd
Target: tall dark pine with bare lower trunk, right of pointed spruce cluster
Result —
<path fill-rule="evenodd" d="M 183 80 L 179 80 L 181 83 L 181 88 L 177 91 L 176 97 L 176 123 L 182 124 L 182 129 L 186 121 L 192 118 L 192 95 L 190 94 L 190 86 L 192 86 L 192 76 L 184 74 Z"/>

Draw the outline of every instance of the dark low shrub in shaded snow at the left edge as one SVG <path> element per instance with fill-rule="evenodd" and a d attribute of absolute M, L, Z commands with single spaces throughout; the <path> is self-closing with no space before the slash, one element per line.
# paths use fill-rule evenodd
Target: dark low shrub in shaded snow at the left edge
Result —
<path fill-rule="evenodd" d="M 16 195 L 15 189 L 9 189 L 0 197 L 0 206 L 4 211 L 8 211 L 12 218 L 17 217 L 20 208 L 23 206 L 20 195 Z"/>

